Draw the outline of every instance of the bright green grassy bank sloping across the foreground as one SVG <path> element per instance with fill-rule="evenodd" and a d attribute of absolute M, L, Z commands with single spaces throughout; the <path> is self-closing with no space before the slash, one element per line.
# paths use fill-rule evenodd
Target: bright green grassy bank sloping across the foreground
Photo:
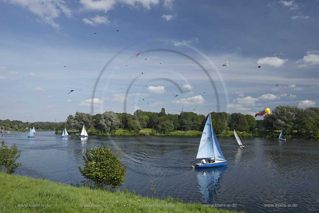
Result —
<path fill-rule="evenodd" d="M 2 172 L 0 179 L 0 212 L 231 212 L 199 203 L 112 193 Z"/>

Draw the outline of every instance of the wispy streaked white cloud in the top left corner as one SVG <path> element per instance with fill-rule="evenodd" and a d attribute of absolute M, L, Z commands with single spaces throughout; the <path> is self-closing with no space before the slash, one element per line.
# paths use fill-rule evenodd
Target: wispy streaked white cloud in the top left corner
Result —
<path fill-rule="evenodd" d="M 26 7 L 29 11 L 39 16 L 42 21 L 55 28 L 60 27 L 54 19 L 60 15 L 61 11 L 68 17 L 72 16 L 72 11 L 63 0 L 11 0 L 10 3 Z"/>

